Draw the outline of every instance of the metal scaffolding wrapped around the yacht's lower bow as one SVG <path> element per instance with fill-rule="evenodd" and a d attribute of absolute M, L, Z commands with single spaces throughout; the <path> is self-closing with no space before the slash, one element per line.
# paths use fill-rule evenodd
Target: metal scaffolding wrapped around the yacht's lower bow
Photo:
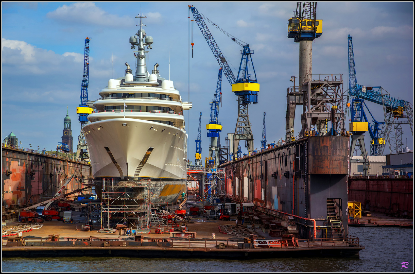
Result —
<path fill-rule="evenodd" d="M 156 194 L 162 186 L 160 181 L 102 179 L 101 182 L 101 228 L 118 224 L 137 230 L 168 227 L 168 203 Z"/>

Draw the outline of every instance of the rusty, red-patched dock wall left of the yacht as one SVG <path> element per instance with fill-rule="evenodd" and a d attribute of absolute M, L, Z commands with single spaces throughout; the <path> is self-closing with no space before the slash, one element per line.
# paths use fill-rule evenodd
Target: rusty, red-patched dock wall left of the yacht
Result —
<path fill-rule="evenodd" d="M 36 152 L 2 147 L 3 206 L 37 203 L 41 196 L 51 197 L 66 180 L 67 175 L 92 177 L 89 164 L 53 157 Z M 82 188 L 82 183 L 72 180 L 63 193 Z M 88 191 L 87 191 L 88 192 Z"/>

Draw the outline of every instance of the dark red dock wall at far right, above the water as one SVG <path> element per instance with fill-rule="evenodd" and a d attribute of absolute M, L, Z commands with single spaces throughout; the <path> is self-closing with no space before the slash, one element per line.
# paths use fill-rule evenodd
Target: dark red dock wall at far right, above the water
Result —
<path fill-rule="evenodd" d="M 413 179 L 349 178 L 348 189 L 362 210 L 413 217 Z"/>

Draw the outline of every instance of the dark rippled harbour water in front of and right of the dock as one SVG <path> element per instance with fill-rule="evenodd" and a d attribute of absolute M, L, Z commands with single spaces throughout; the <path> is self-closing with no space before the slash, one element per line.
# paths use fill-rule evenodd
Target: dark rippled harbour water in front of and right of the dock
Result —
<path fill-rule="evenodd" d="M 140 259 L 122 257 L 3 258 L 3 272 L 413 272 L 413 230 L 349 227 L 365 249 L 360 259 Z M 408 268 L 401 268 L 408 262 Z"/>

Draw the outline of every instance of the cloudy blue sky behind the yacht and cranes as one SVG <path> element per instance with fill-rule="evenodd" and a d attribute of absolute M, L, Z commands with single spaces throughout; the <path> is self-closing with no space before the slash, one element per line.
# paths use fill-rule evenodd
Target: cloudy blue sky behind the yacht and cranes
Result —
<path fill-rule="evenodd" d="M 85 37 L 90 42 L 89 99 L 99 98 L 100 89 L 125 71 L 125 62 L 134 64 L 129 37 L 137 32 L 134 18 L 147 16 L 147 34 L 154 38 L 147 56 L 152 66 L 160 64 L 162 77 L 170 78 L 183 100 L 193 102 L 185 112 L 189 134 L 189 158 L 194 161 L 199 112 L 202 114 L 202 157 L 207 156 L 209 102 L 216 88 L 219 65 L 194 26 L 194 58 L 189 51 L 189 10 L 194 5 L 203 15 L 254 49 L 254 66 L 261 91 L 258 104 L 249 106 L 254 147 L 261 147 L 263 112 L 266 112 L 266 139 L 285 136 L 286 88 L 291 76 L 298 76 L 298 43 L 287 39 L 287 20 L 296 2 L 87 2 L 14 3 L 2 2 L 2 139 L 13 131 L 22 146 L 56 149 L 61 142 L 63 118 L 68 105 L 74 146 L 80 125 L 76 115 L 81 94 Z M 347 35 L 353 37 L 357 82 L 382 86 L 392 96 L 413 103 L 413 3 L 412 2 L 320 2 L 317 19 L 323 20 L 323 34 L 313 43 L 313 73 L 344 74 L 348 88 Z M 234 73 L 240 62 L 241 47 L 210 25 L 221 51 Z M 190 28 L 191 29 L 191 28 Z M 190 56 L 190 58 L 189 58 Z M 190 75 L 190 77 L 189 77 Z M 222 81 L 219 119 L 225 134 L 233 133 L 237 101 L 225 76 Z M 367 103 L 375 118 L 383 121 L 379 105 Z M 300 106 L 295 132 L 300 131 Z M 349 117 L 347 117 L 349 120 Z M 403 126 L 408 147 L 413 138 Z M 366 147 L 369 150 L 369 134 Z M 244 147 L 244 145 L 243 145 Z M 245 148 L 243 148 L 246 151 Z M 388 147 L 385 153 L 389 153 Z"/>

